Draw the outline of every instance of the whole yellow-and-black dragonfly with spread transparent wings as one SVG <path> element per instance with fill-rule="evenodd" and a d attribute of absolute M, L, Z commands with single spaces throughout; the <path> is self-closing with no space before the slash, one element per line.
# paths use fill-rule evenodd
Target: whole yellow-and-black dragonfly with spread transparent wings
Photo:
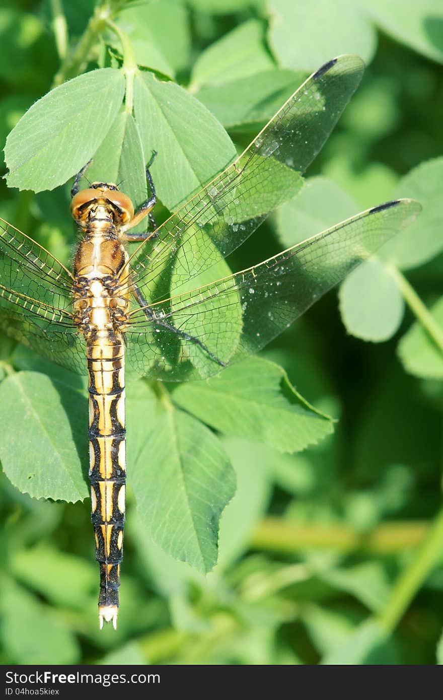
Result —
<path fill-rule="evenodd" d="M 0 323 L 45 358 L 89 377 L 90 495 L 99 626 L 118 617 L 125 523 L 125 365 L 145 377 L 204 379 L 255 353 L 385 241 L 420 205 L 367 209 L 241 272 L 225 255 L 288 200 L 356 90 L 357 56 L 332 59 L 287 100 L 237 160 L 155 225 L 155 186 L 134 211 L 106 181 L 71 190 L 73 269 L 0 221 Z M 321 202 L 319 202 L 321 207 Z M 146 232 L 133 232 L 142 221 Z M 130 254 L 127 244 L 136 243 Z M 208 274 L 213 274 L 208 281 Z"/>

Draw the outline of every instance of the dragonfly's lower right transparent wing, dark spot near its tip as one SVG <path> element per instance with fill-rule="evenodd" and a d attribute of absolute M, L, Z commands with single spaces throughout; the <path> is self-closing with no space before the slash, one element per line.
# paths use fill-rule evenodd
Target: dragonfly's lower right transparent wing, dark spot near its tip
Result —
<path fill-rule="evenodd" d="M 125 329 L 129 363 L 162 379 L 216 374 L 276 337 L 420 210 L 414 200 L 388 202 L 260 265 L 134 309 Z"/>

